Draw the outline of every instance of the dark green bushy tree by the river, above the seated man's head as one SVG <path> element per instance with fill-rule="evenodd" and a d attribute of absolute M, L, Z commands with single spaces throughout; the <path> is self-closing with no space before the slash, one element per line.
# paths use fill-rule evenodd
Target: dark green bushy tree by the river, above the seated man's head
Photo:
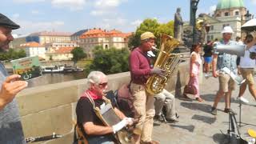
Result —
<path fill-rule="evenodd" d="M 96 46 L 94 49 L 94 60 L 89 66 L 86 66 L 86 74 L 92 70 L 102 71 L 104 74 L 116 74 L 128 71 L 129 50 L 123 48 L 117 50 L 112 47 L 103 50 L 102 46 Z"/>

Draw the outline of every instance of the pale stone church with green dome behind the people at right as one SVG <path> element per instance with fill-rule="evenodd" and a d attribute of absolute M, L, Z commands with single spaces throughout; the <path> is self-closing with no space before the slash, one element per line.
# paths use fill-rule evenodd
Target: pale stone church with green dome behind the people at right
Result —
<path fill-rule="evenodd" d="M 215 38 L 222 38 L 222 29 L 225 26 L 231 26 L 234 30 L 232 39 L 237 36 L 243 36 L 241 26 L 246 22 L 246 6 L 243 0 L 218 0 L 216 10 L 213 16 L 205 14 L 207 22 L 210 24 L 210 31 L 207 34 L 208 40 L 214 40 Z"/>

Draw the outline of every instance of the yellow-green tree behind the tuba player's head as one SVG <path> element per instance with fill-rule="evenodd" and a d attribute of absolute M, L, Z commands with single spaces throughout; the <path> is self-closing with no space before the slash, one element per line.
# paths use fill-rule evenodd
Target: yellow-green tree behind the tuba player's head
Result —
<path fill-rule="evenodd" d="M 140 35 L 146 31 L 152 32 L 158 38 L 156 43 L 159 46 L 161 34 L 174 35 L 174 21 L 161 24 L 158 23 L 156 19 L 145 19 L 141 25 L 138 26 L 136 32 L 131 36 L 128 46 L 131 48 L 139 46 Z"/>

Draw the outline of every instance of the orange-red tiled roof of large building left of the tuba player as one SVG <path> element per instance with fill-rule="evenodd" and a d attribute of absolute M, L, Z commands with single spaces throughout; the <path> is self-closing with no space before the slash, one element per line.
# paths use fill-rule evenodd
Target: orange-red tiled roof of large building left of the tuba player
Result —
<path fill-rule="evenodd" d="M 80 38 L 102 38 L 102 37 L 122 37 L 126 38 L 129 37 L 131 33 L 122 33 L 119 30 L 102 30 L 102 29 L 93 29 L 88 30 L 86 33 L 82 34 Z"/>

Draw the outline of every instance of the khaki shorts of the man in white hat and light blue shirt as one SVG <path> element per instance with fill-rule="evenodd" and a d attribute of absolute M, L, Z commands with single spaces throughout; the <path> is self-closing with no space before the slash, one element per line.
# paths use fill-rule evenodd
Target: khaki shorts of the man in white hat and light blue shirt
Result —
<path fill-rule="evenodd" d="M 235 89 L 234 80 L 230 77 L 230 74 L 219 74 L 218 76 L 219 82 L 219 91 L 223 91 L 224 93 L 228 92 L 229 90 Z"/>

